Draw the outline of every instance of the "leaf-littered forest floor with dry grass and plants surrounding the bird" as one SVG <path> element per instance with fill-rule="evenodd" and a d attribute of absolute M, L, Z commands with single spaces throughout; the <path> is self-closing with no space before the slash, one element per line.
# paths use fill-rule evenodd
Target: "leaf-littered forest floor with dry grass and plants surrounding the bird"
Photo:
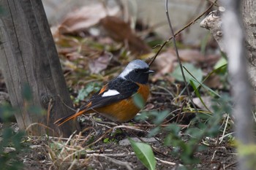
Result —
<path fill-rule="evenodd" d="M 90 12 L 89 8 L 73 12 L 52 27 L 75 108 L 86 104 L 129 61 L 151 61 L 164 42 L 141 23 L 132 30 L 116 16 L 97 18 L 95 11 L 89 19 L 83 18 L 81 14 Z M 26 170 L 146 169 L 127 142 L 132 138 L 151 146 L 156 169 L 237 169 L 225 56 L 211 36 L 192 46 L 183 45 L 184 38 L 177 36 L 178 51 L 197 109 L 187 94 L 173 45 L 167 43 L 151 65 L 156 72 L 149 81 L 151 96 L 134 120 L 117 124 L 97 114 L 83 115 L 79 117 L 83 133 L 69 138 L 24 136 L 15 161 Z M 8 101 L 1 74 L 0 92 L 1 104 Z M 0 130 L 3 127 L 0 123 Z M 16 123 L 12 128 L 18 131 Z"/>

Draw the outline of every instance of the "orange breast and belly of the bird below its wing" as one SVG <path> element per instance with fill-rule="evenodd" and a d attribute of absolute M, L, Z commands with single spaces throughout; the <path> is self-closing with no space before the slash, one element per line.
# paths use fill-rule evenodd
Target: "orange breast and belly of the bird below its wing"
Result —
<path fill-rule="evenodd" d="M 146 102 L 149 95 L 149 87 L 148 85 L 138 85 L 140 86 L 140 88 L 138 89 L 138 93 L 143 97 L 143 100 Z M 137 115 L 138 112 L 140 112 L 140 108 L 136 107 L 132 97 L 124 99 L 122 101 L 118 101 L 105 107 L 99 107 L 95 110 L 104 117 L 120 123 L 131 120 L 133 117 L 135 117 L 135 115 Z"/>

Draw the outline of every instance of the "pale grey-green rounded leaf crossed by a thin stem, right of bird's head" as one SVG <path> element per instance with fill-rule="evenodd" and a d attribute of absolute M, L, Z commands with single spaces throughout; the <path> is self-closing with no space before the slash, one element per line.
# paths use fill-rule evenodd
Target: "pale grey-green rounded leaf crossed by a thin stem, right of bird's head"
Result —
<path fill-rule="evenodd" d="M 186 77 L 186 81 L 189 82 L 189 80 L 195 79 L 198 82 L 201 82 L 203 80 L 203 72 L 201 69 L 196 68 L 192 63 L 183 63 L 182 66 L 184 66 L 186 69 L 184 70 L 184 75 Z M 192 74 L 193 77 L 190 75 Z M 176 80 L 184 82 L 184 79 L 181 74 L 180 66 L 177 66 L 176 69 L 171 74 Z M 196 86 L 198 86 L 198 83 L 196 83 Z"/>

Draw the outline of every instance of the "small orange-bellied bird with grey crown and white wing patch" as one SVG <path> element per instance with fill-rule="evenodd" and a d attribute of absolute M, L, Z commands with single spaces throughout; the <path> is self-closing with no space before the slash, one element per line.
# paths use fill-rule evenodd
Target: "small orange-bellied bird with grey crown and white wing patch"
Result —
<path fill-rule="evenodd" d="M 151 73 L 154 71 L 149 69 L 145 61 L 137 59 L 129 62 L 124 71 L 91 96 L 88 104 L 79 112 L 62 117 L 54 124 L 62 125 L 79 115 L 93 112 L 117 123 L 132 120 L 140 112 L 133 97 L 139 94 L 146 103 L 150 93 L 148 76 Z"/>

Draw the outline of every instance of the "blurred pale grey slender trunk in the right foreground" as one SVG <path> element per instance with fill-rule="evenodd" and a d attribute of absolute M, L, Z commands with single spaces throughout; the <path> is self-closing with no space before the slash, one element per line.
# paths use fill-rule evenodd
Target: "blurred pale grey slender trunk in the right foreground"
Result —
<path fill-rule="evenodd" d="M 238 169 L 255 169 L 254 156 L 246 154 L 249 144 L 254 144 L 252 117 L 252 90 L 247 74 L 244 29 L 241 14 L 242 0 L 222 0 L 225 4 L 223 15 L 223 42 L 227 52 L 230 85 L 232 85 L 233 116 L 235 117 L 236 141 L 238 142 Z M 247 10 L 247 9 L 245 9 Z M 246 20 L 247 18 L 244 18 Z M 252 37 L 248 36 L 249 39 Z M 248 152 L 248 151 L 247 151 Z"/>

